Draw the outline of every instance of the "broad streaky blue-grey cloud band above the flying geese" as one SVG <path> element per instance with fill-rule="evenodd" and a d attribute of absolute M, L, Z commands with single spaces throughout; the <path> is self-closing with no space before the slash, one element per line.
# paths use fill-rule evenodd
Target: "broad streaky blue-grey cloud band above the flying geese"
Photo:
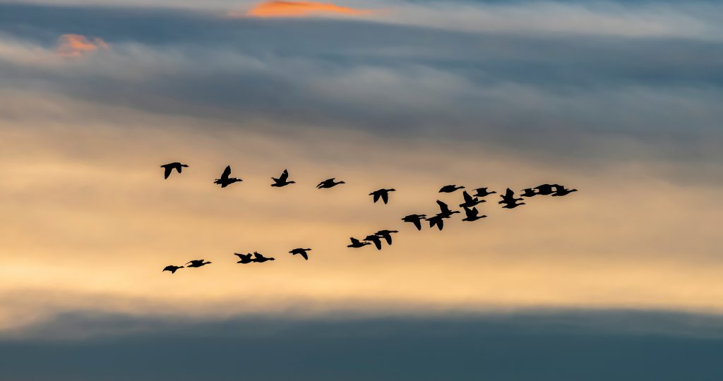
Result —
<path fill-rule="evenodd" d="M 715 40 L 231 20 L 168 9 L 0 9 L 0 31 L 13 38 L 51 47 L 62 33 L 100 36 L 116 54 L 85 71 L 0 61 L 6 87 L 33 83 L 207 119 L 473 138 L 562 157 L 723 160 L 723 49 Z"/>

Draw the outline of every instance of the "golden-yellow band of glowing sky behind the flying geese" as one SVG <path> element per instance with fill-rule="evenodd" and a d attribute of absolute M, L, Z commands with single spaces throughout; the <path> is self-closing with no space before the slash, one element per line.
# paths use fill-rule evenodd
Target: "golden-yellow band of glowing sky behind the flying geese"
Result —
<path fill-rule="evenodd" d="M 3 108 L 24 101 L 0 98 Z M 646 176 L 644 163 L 587 176 L 493 148 L 474 153 L 463 142 L 401 145 L 313 129 L 272 138 L 254 133 L 254 124 L 239 132 L 138 112 L 108 117 L 111 109 L 62 98 L 34 108 L 56 116 L 0 124 L 1 325 L 90 306 L 212 316 L 355 308 L 723 311 L 723 262 L 709 245 L 722 210 L 707 197 L 686 197 L 690 186 Z M 92 127 L 60 121 L 80 114 Z M 125 129 L 131 120 L 154 127 Z M 158 165 L 173 160 L 190 167 L 164 181 Z M 226 164 L 244 182 L 221 190 L 211 181 Z M 284 168 L 298 184 L 269 187 Z M 314 189 L 330 176 L 348 184 Z M 516 210 L 490 199 L 481 205 L 489 218 L 453 221 L 442 232 L 398 220 L 432 212 L 438 197 L 454 202 L 458 194 L 436 193 L 440 184 L 521 189 L 548 180 L 584 191 L 536 197 Z M 618 185 L 607 192 L 598 184 Z M 387 206 L 367 196 L 380 187 L 398 189 Z M 345 247 L 349 236 L 379 228 L 401 231 L 392 247 Z M 309 261 L 286 253 L 300 246 L 314 249 Z M 253 250 L 278 260 L 235 264 L 233 252 Z M 161 273 L 200 258 L 213 265 Z"/>

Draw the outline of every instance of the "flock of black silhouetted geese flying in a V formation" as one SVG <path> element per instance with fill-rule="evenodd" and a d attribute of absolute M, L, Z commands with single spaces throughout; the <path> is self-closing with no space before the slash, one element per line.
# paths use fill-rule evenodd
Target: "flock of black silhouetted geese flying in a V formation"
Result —
<path fill-rule="evenodd" d="M 161 166 L 161 168 L 163 168 L 163 178 L 168 179 L 168 176 L 171 176 L 174 170 L 181 174 L 181 170 L 187 167 L 188 166 L 186 164 L 181 164 L 179 162 L 164 164 L 163 166 Z M 286 169 L 281 173 L 280 176 L 278 176 L 278 178 L 272 177 L 271 179 L 273 179 L 273 184 L 271 184 L 271 187 L 286 187 L 289 184 L 296 183 L 296 181 L 288 180 L 288 171 Z M 231 177 L 231 166 L 226 166 L 226 169 L 223 170 L 223 174 L 221 174 L 221 177 L 215 179 L 213 181 L 213 184 L 218 184 L 221 186 L 221 188 L 226 188 L 229 185 L 239 181 L 243 180 L 237 179 L 236 177 Z M 326 179 L 324 181 L 321 181 L 317 185 L 317 189 L 329 189 L 336 187 L 339 184 L 346 183 L 344 183 L 344 181 L 336 181 L 335 178 Z M 450 184 L 440 188 L 439 192 L 453 193 L 460 189 L 465 189 L 465 187 Z M 395 191 L 396 189 L 393 188 L 377 189 L 374 192 L 369 193 L 369 196 L 372 196 L 373 202 L 382 200 L 382 202 L 386 204 L 389 202 L 389 193 Z M 504 194 L 500 194 L 501 200 L 497 203 L 502 205 L 502 207 L 504 207 L 505 209 L 514 209 L 515 207 L 525 205 L 525 203 L 522 202 L 524 200 L 523 197 L 529 198 L 537 195 L 561 197 L 568 195 L 572 192 L 577 192 L 577 189 L 567 189 L 560 184 L 542 184 L 538 185 L 537 187 L 523 189 L 520 193 L 521 197 L 515 197 L 515 192 L 513 192 L 512 189 L 508 188 Z M 470 194 L 466 190 L 462 191 L 464 202 L 459 205 L 459 207 L 461 207 L 465 213 L 465 218 L 462 218 L 462 221 L 473 222 L 487 217 L 487 215 L 479 214 L 479 210 L 477 210 L 476 205 L 479 205 L 482 202 L 487 202 L 487 200 L 484 200 L 484 197 L 487 197 L 490 194 L 495 194 L 497 192 L 487 190 L 487 188 L 477 188 L 474 189 L 473 193 L 474 194 Z M 422 221 L 427 221 L 429 222 L 429 228 L 434 228 L 436 226 L 441 231 L 442 228 L 444 228 L 444 221 L 446 219 L 451 218 L 452 215 L 455 213 L 461 212 L 459 210 L 450 210 L 449 205 L 445 204 L 445 202 L 442 202 L 440 200 L 437 200 L 437 205 L 440 207 L 440 213 L 432 216 L 427 216 L 425 214 L 411 214 L 404 216 L 401 220 L 407 223 L 413 223 L 414 226 L 416 226 L 417 230 L 422 230 Z M 364 239 L 356 239 L 354 237 L 351 237 L 351 244 L 348 244 L 347 247 L 358 249 L 360 247 L 374 244 L 377 250 L 381 250 L 382 239 L 384 240 L 384 242 L 386 242 L 386 244 L 390 245 L 392 244 L 392 234 L 395 233 L 398 233 L 398 231 L 380 230 L 376 233 L 365 236 Z M 292 249 L 289 253 L 292 255 L 299 254 L 301 255 L 301 257 L 304 257 L 304 260 L 308 260 L 309 252 L 311 250 L 312 249 L 296 248 Z M 234 255 L 239 257 L 239 261 L 236 263 L 241 263 L 242 265 L 249 263 L 263 263 L 275 260 L 275 258 L 265 257 L 259 252 L 252 252 L 247 254 L 234 253 Z M 171 273 L 175 274 L 176 271 L 181 268 L 202 267 L 210 264 L 211 262 L 208 262 L 206 260 L 192 260 L 185 263 L 183 266 L 168 265 L 163 268 L 163 271 L 170 271 Z"/>

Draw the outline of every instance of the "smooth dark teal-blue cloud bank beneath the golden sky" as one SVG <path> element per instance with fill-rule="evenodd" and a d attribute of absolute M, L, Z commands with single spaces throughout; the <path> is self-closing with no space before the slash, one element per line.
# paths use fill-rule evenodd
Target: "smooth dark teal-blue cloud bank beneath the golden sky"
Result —
<path fill-rule="evenodd" d="M 562 312 L 178 323 L 67 315 L 69 330 L 0 341 L 3 380 L 720 380 L 719 318 Z M 57 332 L 58 330 L 53 329 Z M 69 331 L 69 332 L 71 332 Z"/>

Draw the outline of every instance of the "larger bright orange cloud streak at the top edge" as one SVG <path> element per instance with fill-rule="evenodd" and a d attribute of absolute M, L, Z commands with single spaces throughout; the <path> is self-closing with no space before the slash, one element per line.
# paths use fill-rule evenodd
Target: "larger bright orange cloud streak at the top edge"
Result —
<path fill-rule="evenodd" d="M 367 9 L 341 7 L 331 3 L 314 1 L 265 1 L 257 4 L 245 15 L 250 17 L 305 17 L 312 14 L 333 13 L 359 16 L 372 13 Z M 237 14 L 231 14 L 232 16 Z"/>

